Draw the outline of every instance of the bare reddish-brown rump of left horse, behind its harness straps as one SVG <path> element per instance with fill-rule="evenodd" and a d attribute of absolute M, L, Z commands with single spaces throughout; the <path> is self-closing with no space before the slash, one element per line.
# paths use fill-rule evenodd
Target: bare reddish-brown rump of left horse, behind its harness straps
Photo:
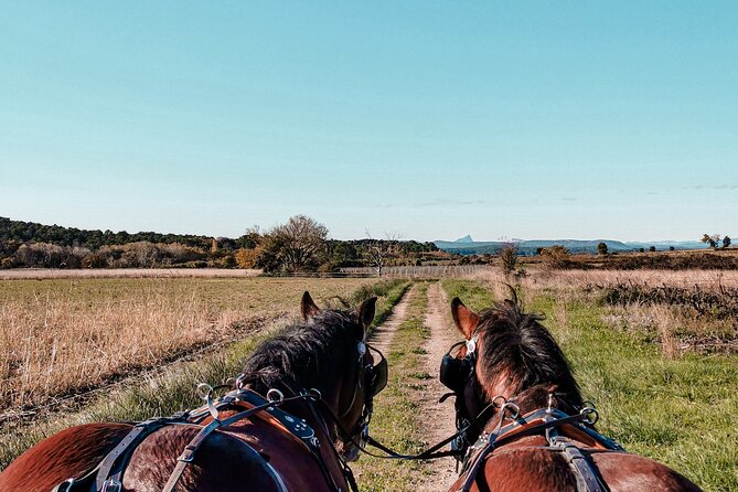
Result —
<path fill-rule="evenodd" d="M 95 468 L 132 428 L 86 424 L 55 434 L 18 457 L 0 473 L 0 491 L 49 492 Z"/>

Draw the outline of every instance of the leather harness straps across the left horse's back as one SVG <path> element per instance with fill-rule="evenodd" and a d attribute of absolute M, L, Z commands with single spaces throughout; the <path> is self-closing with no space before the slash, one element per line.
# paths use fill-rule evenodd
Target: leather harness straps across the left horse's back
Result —
<path fill-rule="evenodd" d="M 212 388 L 210 388 L 212 391 Z M 179 479 L 182 477 L 186 466 L 191 463 L 200 446 L 206 440 L 207 436 L 225 428 L 239 420 L 247 418 L 258 418 L 280 431 L 291 436 L 297 442 L 301 443 L 306 450 L 317 460 L 318 466 L 323 473 L 328 484 L 335 491 L 341 491 L 341 488 L 335 483 L 335 479 L 330 473 L 322 456 L 320 454 L 320 441 L 315 437 L 315 432 L 304 419 L 297 418 L 279 408 L 279 405 L 290 400 L 303 400 L 310 407 L 313 416 L 318 413 L 314 409 L 313 403 L 320 399 L 320 394 L 317 391 L 303 391 L 292 397 L 284 397 L 280 392 L 279 399 L 266 399 L 261 395 L 252 389 L 235 389 L 229 392 L 216 402 L 210 400 L 210 392 L 207 395 L 207 404 L 192 411 L 177 414 L 172 417 L 152 418 L 142 423 L 138 423 L 128 432 L 126 437 L 105 457 L 105 459 L 93 470 L 88 471 L 81 478 L 68 479 L 56 485 L 52 492 L 120 492 L 122 491 L 122 474 L 132 456 L 133 451 L 146 437 L 156 432 L 157 430 L 172 425 L 197 425 L 200 431 L 184 448 L 183 452 L 177 459 L 170 478 L 162 489 L 162 492 L 173 492 Z M 270 395 L 268 395 L 270 396 Z M 242 411 L 227 417 L 218 419 L 217 414 L 227 407 L 236 407 L 243 409 Z M 207 417 L 213 419 L 204 424 Z M 319 419 L 320 421 L 320 419 Z M 285 484 L 279 474 L 274 470 L 271 464 L 265 460 L 261 454 L 256 451 L 248 442 L 239 439 L 244 445 L 244 449 L 249 457 L 260 461 L 263 467 L 268 470 L 268 474 L 275 482 L 277 490 L 287 492 Z M 338 456 L 338 453 L 336 453 Z M 344 478 L 349 485 L 356 491 L 356 483 L 351 473 L 351 470 L 343 463 L 340 458 L 339 461 L 343 466 Z"/>

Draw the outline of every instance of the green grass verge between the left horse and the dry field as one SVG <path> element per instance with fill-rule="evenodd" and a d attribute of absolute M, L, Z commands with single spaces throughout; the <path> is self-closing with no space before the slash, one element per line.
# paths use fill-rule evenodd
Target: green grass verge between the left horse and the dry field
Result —
<path fill-rule="evenodd" d="M 371 296 L 378 296 L 375 319 L 384 320 L 409 285 L 404 280 L 373 282 L 353 292 L 338 293 L 347 296 L 352 303 L 361 302 Z M 317 291 L 312 287 L 314 286 L 311 286 L 311 292 Z M 320 300 L 322 297 L 315 296 L 315 299 Z M 292 312 L 297 311 L 298 306 L 295 306 Z M 3 429 L 0 436 L 0 470 L 39 440 L 65 427 L 90 421 L 145 420 L 151 416 L 171 415 L 184 408 L 199 406 L 200 402 L 195 396 L 197 383 L 207 382 L 215 385 L 236 376 L 256 345 L 274 336 L 281 327 L 272 324 L 202 361 L 174 364 L 156 376 L 130 382 L 122 389 L 104 394 L 75 414 L 58 416 L 50 421 L 34 421 L 32 425 Z"/>

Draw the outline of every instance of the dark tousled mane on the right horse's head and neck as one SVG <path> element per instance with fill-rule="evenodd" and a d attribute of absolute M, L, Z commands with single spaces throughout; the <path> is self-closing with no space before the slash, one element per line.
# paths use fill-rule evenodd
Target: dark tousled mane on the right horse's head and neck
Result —
<path fill-rule="evenodd" d="M 581 405 L 579 385 L 566 356 L 541 324 L 545 317 L 525 312 L 514 290 L 512 297 L 512 300 L 495 302 L 479 314 L 482 353 L 478 377 L 488 398 L 498 396 L 489 392 L 494 392 L 496 384 L 504 382 L 510 396 L 534 386 L 555 386 L 557 400 L 570 407 Z M 546 404 L 546 398 L 543 399 L 538 405 Z"/>

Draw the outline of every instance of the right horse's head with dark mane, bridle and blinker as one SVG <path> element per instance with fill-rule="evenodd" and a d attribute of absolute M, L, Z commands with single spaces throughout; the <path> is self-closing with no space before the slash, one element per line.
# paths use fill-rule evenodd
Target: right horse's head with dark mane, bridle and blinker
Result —
<path fill-rule="evenodd" d="M 581 405 L 579 387 L 542 315 L 524 312 L 514 295 L 477 313 L 459 298 L 453 322 L 464 340 L 443 357 L 441 382 L 457 398 L 457 426 L 471 424 L 463 446 L 473 443 L 500 404 L 515 400 L 521 411 L 549 404 Z"/>

